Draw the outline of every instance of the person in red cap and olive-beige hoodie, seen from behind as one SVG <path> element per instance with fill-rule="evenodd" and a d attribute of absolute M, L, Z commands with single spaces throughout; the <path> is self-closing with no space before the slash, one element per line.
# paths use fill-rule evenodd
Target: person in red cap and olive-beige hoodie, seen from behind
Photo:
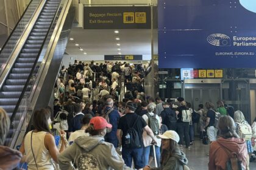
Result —
<path fill-rule="evenodd" d="M 90 136 L 76 138 L 74 143 L 59 155 L 60 169 L 74 169 L 71 162 L 77 169 L 131 169 L 125 165 L 115 146 L 104 141 L 107 128 L 112 128 L 112 125 L 104 118 L 91 118 L 85 130 Z"/>

